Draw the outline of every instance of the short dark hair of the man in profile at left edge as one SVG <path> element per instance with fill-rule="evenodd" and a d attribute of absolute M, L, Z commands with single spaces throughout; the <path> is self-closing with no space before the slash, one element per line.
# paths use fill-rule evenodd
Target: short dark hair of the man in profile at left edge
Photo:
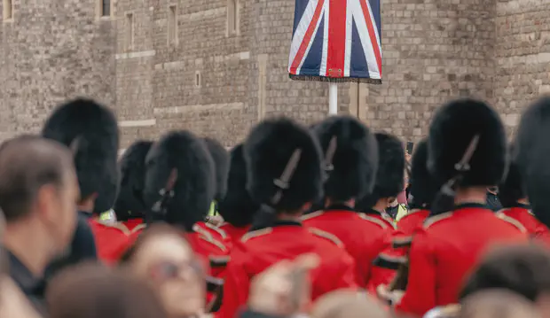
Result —
<path fill-rule="evenodd" d="M 60 187 L 73 167 L 67 147 L 40 136 L 19 136 L 0 146 L 0 208 L 6 221 L 27 216 L 38 191 L 46 184 Z"/>

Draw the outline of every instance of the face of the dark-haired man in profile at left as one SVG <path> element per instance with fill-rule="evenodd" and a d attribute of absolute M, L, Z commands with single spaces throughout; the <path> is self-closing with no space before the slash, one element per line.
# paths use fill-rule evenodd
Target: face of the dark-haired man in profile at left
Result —
<path fill-rule="evenodd" d="M 76 202 L 80 196 L 75 170 L 67 169 L 61 184 L 44 185 L 36 200 L 40 218 L 50 233 L 56 253 L 64 252 L 76 227 Z"/>

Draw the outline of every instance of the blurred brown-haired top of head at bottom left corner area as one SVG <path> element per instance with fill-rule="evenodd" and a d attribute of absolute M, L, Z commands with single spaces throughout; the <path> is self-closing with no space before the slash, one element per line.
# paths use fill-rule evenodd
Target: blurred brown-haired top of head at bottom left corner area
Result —
<path fill-rule="evenodd" d="M 51 318 L 163 318 L 152 287 L 135 276 L 96 264 L 67 269 L 50 284 Z"/>

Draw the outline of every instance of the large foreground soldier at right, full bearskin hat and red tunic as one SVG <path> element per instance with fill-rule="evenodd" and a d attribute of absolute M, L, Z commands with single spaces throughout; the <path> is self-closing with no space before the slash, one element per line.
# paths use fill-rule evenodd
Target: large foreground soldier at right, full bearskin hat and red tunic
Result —
<path fill-rule="evenodd" d="M 506 170 L 505 130 L 489 105 L 460 99 L 436 112 L 428 135 L 428 171 L 444 183 L 438 199 L 453 199 L 455 208 L 430 217 L 415 232 L 398 311 L 422 316 L 458 302 L 460 286 L 483 252 L 494 244 L 527 241 L 524 232 L 486 207 L 487 188 L 499 184 Z"/>

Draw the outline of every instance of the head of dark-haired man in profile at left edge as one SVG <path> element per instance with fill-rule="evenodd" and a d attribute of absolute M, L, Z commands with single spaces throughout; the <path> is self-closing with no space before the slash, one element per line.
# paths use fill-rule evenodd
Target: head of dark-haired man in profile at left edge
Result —
<path fill-rule="evenodd" d="M 0 175 L 6 247 L 33 237 L 26 248 L 50 258 L 63 252 L 75 230 L 79 197 L 71 151 L 39 136 L 16 137 L 0 146 Z"/>

